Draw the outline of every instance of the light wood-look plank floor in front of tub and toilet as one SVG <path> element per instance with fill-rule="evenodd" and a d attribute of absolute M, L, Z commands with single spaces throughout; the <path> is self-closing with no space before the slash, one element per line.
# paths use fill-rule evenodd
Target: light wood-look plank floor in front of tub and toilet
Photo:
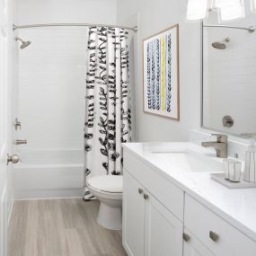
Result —
<path fill-rule="evenodd" d="M 123 256 L 121 232 L 96 222 L 99 202 L 15 201 L 8 256 Z"/>

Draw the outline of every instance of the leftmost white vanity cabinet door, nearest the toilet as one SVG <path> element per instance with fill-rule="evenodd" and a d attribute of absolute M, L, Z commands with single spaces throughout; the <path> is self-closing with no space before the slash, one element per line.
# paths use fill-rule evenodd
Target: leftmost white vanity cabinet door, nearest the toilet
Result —
<path fill-rule="evenodd" d="M 130 256 L 144 255 L 145 199 L 143 187 L 124 170 L 123 246 Z"/>

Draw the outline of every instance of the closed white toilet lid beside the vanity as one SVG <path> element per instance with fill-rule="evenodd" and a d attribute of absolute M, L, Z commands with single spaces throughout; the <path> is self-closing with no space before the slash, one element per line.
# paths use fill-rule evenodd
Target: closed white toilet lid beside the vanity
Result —
<path fill-rule="evenodd" d="M 95 190 L 109 193 L 122 193 L 123 191 L 123 176 L 120 175 L 94 176 L 87 183 Z"/>

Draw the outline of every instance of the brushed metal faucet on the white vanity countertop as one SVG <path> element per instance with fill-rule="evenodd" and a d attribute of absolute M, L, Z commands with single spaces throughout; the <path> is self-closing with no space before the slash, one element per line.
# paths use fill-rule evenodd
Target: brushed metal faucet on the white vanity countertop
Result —
<path fill-rule="evenodd" d="M 223 134 L 212 134 L 216 136 L 216 141 L 202 142 L 204 147 L 214 147 L 216 150 L 216 157 L 227 158 L 227 136 Z"/>

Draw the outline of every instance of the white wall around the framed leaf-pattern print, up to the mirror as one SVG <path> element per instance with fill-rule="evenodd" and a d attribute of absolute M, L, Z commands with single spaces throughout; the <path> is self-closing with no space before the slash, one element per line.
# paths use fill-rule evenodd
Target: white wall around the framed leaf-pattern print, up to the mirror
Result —
<path fill-rule="evenodd" d="M 137 122 L 139 141 L 187 140 L 190 128 L 199 128 L 200 29 L 185 22 L 186 0 L 119 0 L 118 23 L 131 25 L 139 13 L 137 34 Z M 143 112 L 142 40 L 173 24 L 180 24 L 181 121 Z"/>

